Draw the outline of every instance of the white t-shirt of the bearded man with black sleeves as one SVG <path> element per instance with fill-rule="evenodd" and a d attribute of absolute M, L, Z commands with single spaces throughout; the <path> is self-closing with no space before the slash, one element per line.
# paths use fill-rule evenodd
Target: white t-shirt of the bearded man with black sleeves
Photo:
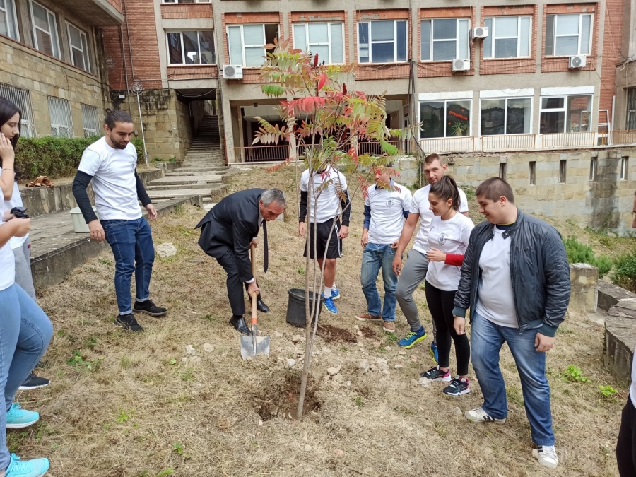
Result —
<path fill-rule="evenodd" d="M 125 149 L 115 149 L 102 137 L 84 151 L 78 170 L 93 176 L 95 207 L 100 220 L 141 218 L 135 167 L 137 151 L 132 143 Z"/>

